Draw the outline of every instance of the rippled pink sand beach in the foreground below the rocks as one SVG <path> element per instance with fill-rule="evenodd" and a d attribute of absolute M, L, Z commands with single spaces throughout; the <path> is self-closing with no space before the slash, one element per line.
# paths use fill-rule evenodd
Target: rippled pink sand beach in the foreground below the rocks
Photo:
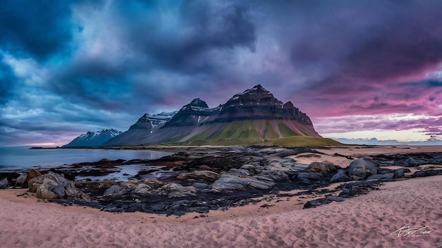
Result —
<path fill-rule="evenodd" d="M 158 216 L 105 213 L 0 190 L 1 247 L 442 247 L 442 176 L 388 182 L 316 209 L 299 199 Z M 198 218 L 195 218 L 198 216 Z"/>

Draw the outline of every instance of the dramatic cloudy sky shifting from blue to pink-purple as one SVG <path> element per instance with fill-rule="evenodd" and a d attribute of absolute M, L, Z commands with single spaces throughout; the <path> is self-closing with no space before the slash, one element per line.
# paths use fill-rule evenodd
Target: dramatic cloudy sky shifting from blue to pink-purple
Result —
<path fill-rule="evenodd" d="M 442 1 L 0 4 L 0 146 L 127 130 L 261 84 L 325 137 L 442 137 Z"/>

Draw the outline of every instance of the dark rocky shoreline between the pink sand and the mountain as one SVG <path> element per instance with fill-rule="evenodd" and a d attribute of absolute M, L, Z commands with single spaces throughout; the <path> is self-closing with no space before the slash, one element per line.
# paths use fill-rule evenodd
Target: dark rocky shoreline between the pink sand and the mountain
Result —
<path fill-rule="evenodd" d="M 35 172 L 32 172 L 35 175 L 29 175 L 31 172 L 1 173 L 0 187 L 28 187 L 39 198 L 102 211 L 141 211 L 174 216 L 198 212 L 203 216 L 210 210 L 259 202 L 263 208 L 269 207 L 265 201 L 268 197 L 282 200 L 284 197 L 309 198 L 314 195 L 315 199 L 304 204 L 304 208 L 311 208 L 376 190 L 383 182 L 442 175 L 442 152 L 366 157 L 335 153 L 334 157 L 347 161 L 335 164 L 323 161 L 328 149 L 325 147 L 164 149 L 177 153 L 157 160 L 102 159 L 76 163 L 40 171 L 43 175 Z M 299 162 L 306 158 L 313 162 Z M 126 181 L 76 180 L 94 176 L 105 178 L 124 166 L 134 165 L 141 169 Z"/>

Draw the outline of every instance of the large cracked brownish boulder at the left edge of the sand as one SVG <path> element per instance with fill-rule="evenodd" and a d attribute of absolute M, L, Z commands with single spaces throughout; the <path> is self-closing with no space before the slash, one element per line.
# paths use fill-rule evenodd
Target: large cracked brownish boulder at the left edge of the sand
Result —
<path fill-rule="evenodd" d="M 86 194 L 73 185 L 72 181 L 52 172 L 32 178 L 28 182 L 28 186 L 29 191 L 37 193 L 37 198 L 40 199 L 70 198 L 90 200 Z"/>

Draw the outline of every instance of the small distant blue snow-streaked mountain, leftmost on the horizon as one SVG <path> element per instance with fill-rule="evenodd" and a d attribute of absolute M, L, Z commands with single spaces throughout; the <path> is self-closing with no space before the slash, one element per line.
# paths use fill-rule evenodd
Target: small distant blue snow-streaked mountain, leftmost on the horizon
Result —
<path fill-rule="evenodd" d="M 105 129 L 97 132 L 87 132 L 73 139 L 69 144 L 63 147 L 96 147 L 101 146 L 112 137 L 121 135 L 121 131 L 114 129 Z"/>

